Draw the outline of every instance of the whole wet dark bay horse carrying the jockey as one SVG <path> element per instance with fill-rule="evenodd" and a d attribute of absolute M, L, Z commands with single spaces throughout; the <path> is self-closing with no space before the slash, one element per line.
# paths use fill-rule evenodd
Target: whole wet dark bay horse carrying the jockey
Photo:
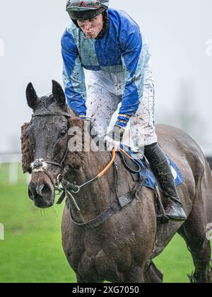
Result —
<path fill-rule="evenodd" d="M 36 206 L 54 204 L 54 186 L 63 173 L 66 180 L 83 185 L 111 161 L 109 152 L 67 151 L 74 125 L 83 130 L 84 121 L 69 117 L 71 110 L 61 86 L 53 81 L 52 95 L 38 98 L 28 85 L 27 100 L 33 109 L 30 124 L 22 127 L 23 171 L 31 172 L 29 197 Z M 67 260 L 79 283 L 162 282 L 163 275 L 153 262 L 175 233 L 182 235 L 194 260 L 192 281 L 211 283 L 211 246 L 207 226 L 212 222 L 212 179 L 206 158 L 196 142 L 175 127 L 159 125 L 158 141 L 178 165 L 184 183 L 177 190 L 187 221 L 158 225 L 155 193 L 143 187 L 137 199 L 96 228 L 75 226 L 65 206 L 62 219 L 62 244 Z M 119 195 L 131 191 L 135 183 L 119 156 Z M 72 219 L 86 223 L 117 202 L 114 168 L 80 192 L 68 195 Z M 78 207 L 76 207 L 76 204 Z M 80 209 L 80 211 L 78 210 Z"/>

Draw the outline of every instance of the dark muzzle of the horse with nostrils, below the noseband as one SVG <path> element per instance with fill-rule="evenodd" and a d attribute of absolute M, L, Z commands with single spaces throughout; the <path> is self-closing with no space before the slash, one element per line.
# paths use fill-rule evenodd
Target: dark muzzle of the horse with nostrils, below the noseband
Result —
<path fill-rule="evenodd" d="M 35 206 L 44 209 L 54 204 L 54 187 L 47 182 L 33 183 L 28 187 L 28 195 Z"/>

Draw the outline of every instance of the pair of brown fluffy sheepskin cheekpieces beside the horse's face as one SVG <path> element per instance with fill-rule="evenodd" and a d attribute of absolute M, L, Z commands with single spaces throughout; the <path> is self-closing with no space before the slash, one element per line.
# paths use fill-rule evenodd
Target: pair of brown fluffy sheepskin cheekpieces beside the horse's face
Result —
<path fill-rule="evenodd" d="M 30 173 L 30 164 L 33 163 L 33 151 L 31 149 L 30 143 L 28 141 L 28 136 L 26 134 L 29 123 L 24 123 L 21 126 L 21 152 L 22 152 L 22 168 L 23 173 Z M 80 127 L 83 130 L 84 121 L 78 117 L 71 117 L 69 119 L 69 128 L 70 127 Z M 84 139 L 84 132 L 83 132 Z M 66 155 L 64 165 L 66 168 L 78 170 L 85 165 L 86 153 L 84 149 L 82 151 L 71 152 L 69 151 Z"/>

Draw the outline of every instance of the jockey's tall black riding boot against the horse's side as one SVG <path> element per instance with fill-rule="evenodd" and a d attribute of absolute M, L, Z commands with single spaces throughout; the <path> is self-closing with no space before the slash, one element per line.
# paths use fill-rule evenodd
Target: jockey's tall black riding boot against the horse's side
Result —
<path fill-rule="evenodd" d="M 158 143 L 145 146 L 144 155 L 148 159 L 155 177 L 160 182 L 165 197 L 168 199 L 167 217 L 173 221 L 185 221 L 187 216 L 184 213 L 182 203 L 179 201 L 175 180 L 167 156 Z"/>

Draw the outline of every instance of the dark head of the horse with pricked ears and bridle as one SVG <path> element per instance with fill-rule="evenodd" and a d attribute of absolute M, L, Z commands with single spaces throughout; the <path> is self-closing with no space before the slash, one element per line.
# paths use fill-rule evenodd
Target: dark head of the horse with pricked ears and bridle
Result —
<path fill-rule="evenodd" d="M 32 173 L 28 194 L 35 206 L 54 204 L 54 185 L 68 148 L 69 117 L 64 91 L 52 81 L 52 95 L 38 98 L 32 83 L 26 89 L 33 110 L 30 124 L 22 127 L 23 171 Z"/>

